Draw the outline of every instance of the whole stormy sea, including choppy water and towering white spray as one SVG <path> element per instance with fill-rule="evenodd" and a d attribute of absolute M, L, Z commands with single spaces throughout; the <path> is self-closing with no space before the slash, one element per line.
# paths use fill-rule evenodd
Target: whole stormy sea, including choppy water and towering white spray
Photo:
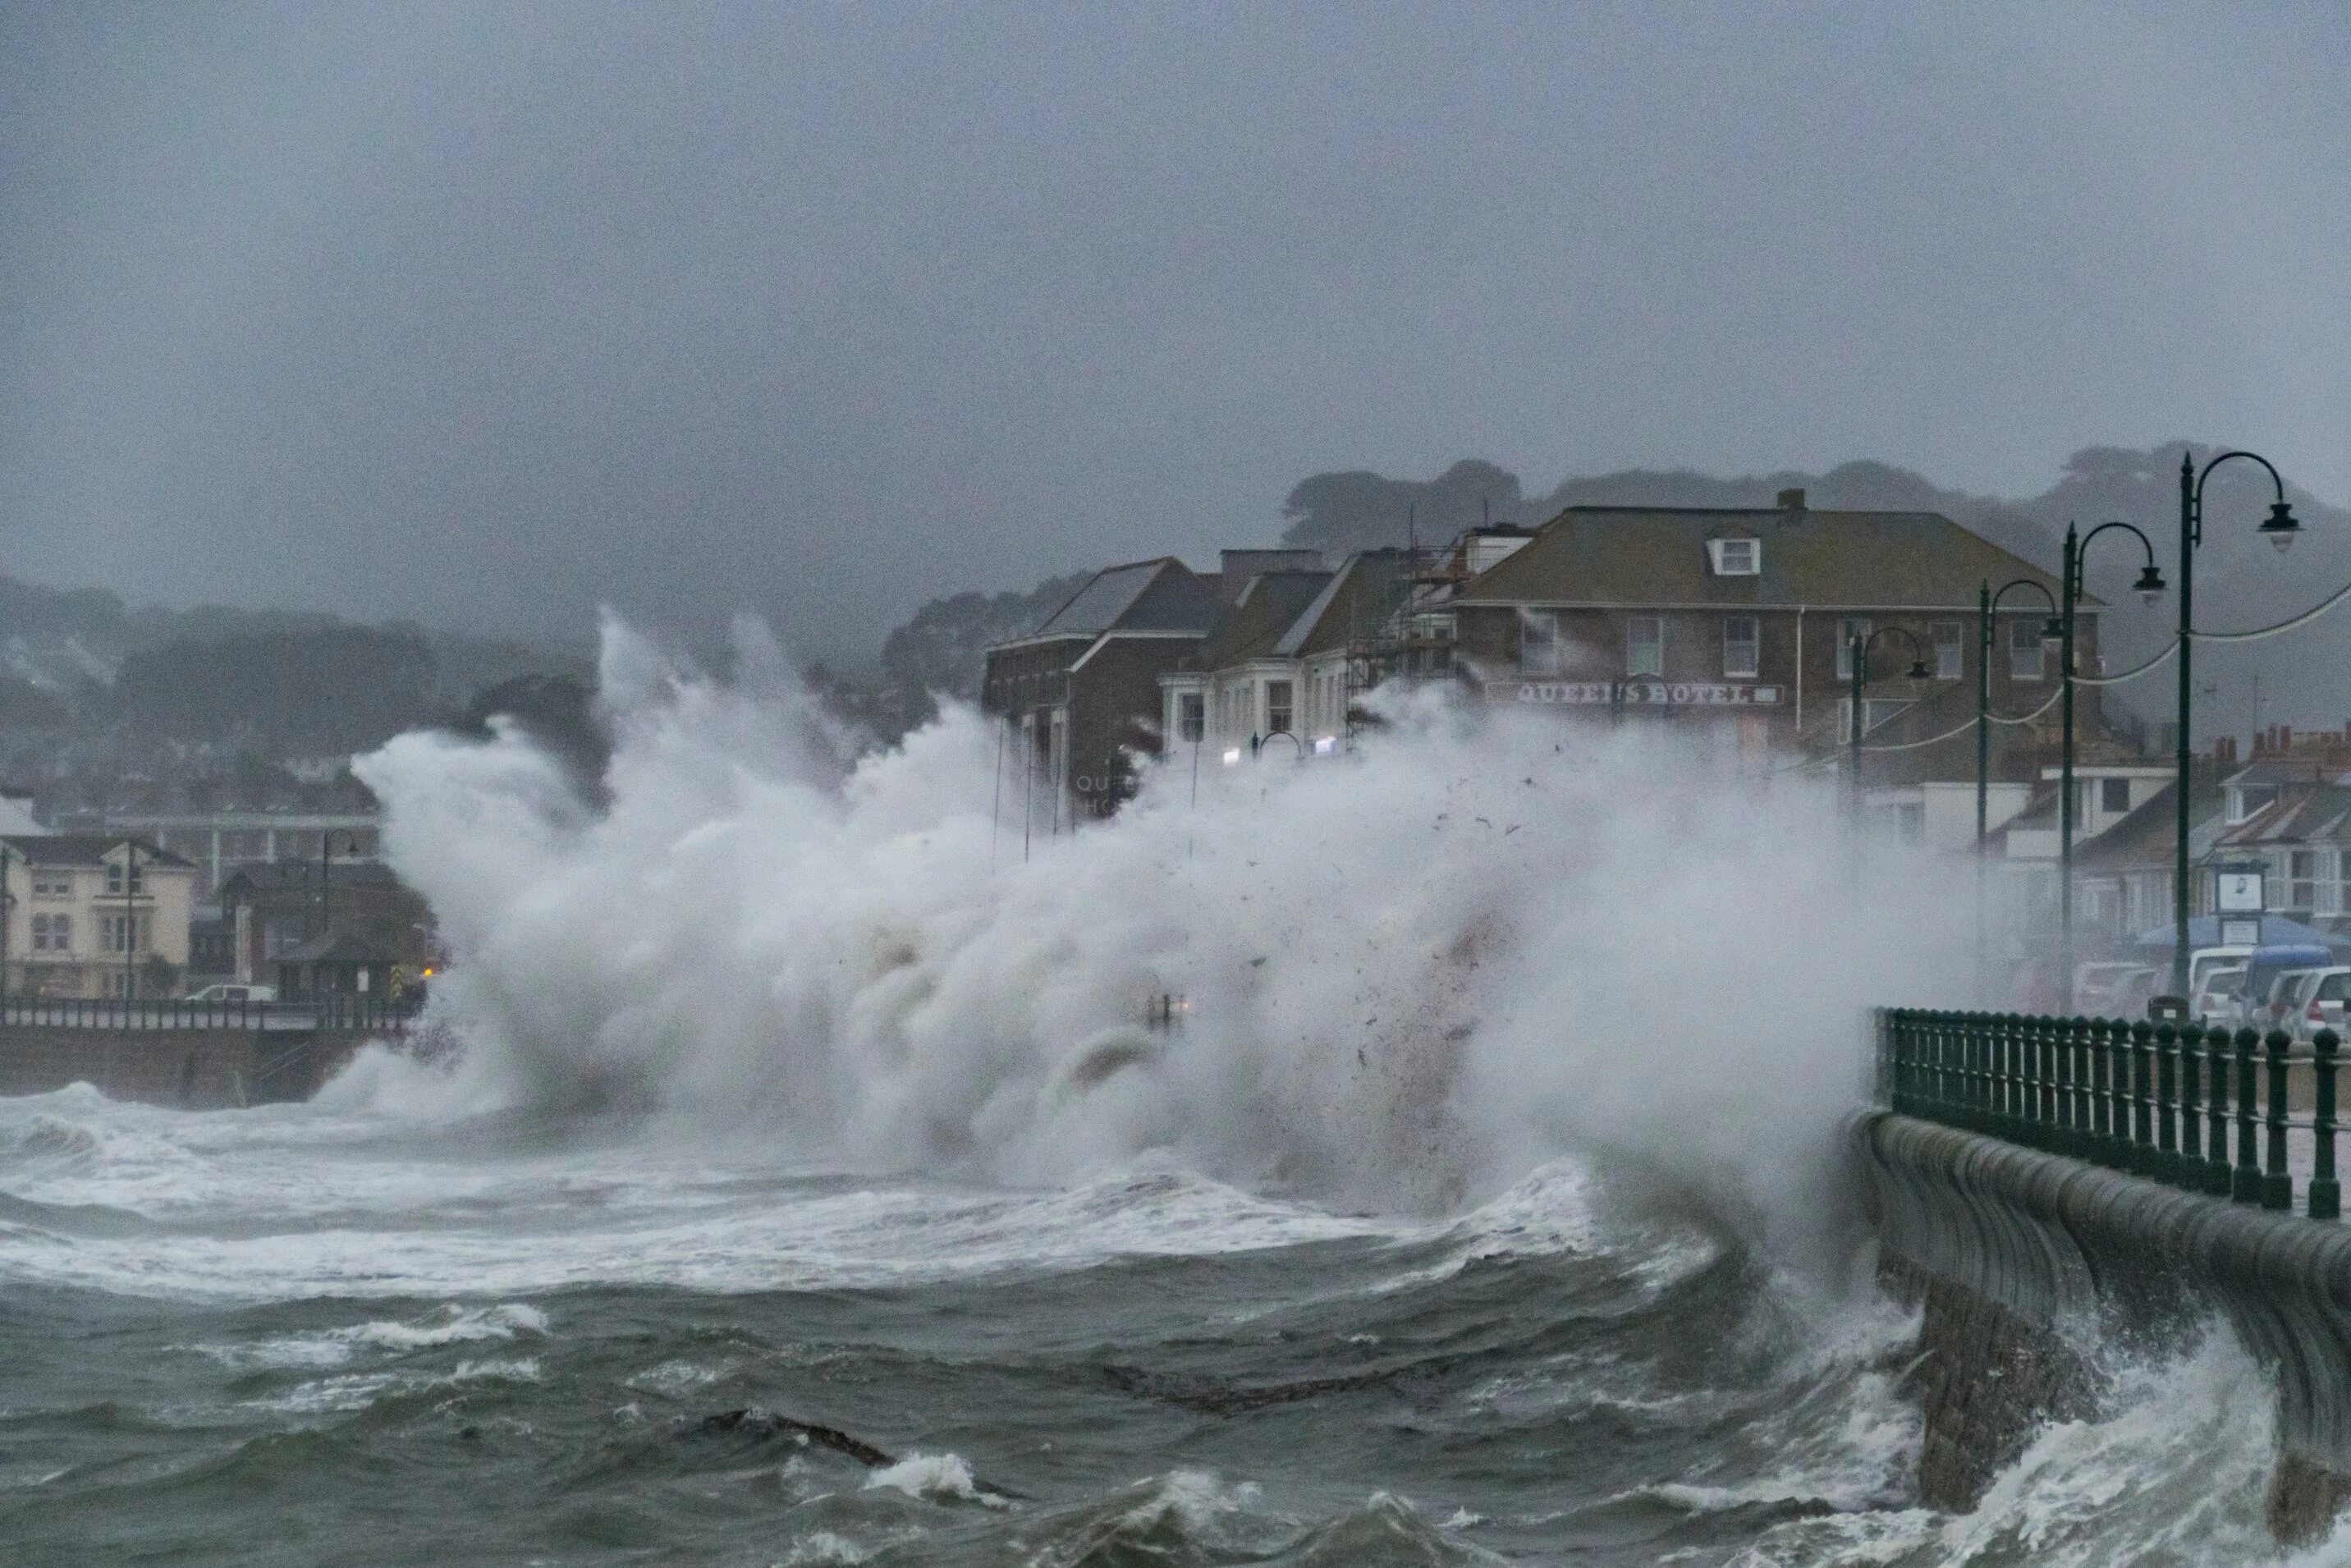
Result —
<path fill-rule="evenodd" d="M 741 665 L 367 759 L 440 1048 L 0 1100 L 0 1561 L 2278 1561 L 2226 1333 L 1916 1502 L 1838 1147 L 1970 922 L 1834 790 L 1404 705 L 1072 830 Z"/>

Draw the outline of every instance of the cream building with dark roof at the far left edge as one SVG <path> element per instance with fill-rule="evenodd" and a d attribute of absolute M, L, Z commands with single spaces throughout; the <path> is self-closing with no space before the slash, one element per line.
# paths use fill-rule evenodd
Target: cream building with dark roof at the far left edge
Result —
<path fill-rule="evenodd" d="M 188 969 L 195 865 L 115 835 L 7 835 L 0 990 L 169 997 Z"/>

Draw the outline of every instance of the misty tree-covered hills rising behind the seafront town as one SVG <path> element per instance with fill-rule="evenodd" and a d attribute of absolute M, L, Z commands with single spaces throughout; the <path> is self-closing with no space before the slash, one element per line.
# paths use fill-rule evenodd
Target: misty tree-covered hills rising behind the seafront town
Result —
<path fill-rule="evenodd" d="M 2003 498 L 1944 489 L 1890 463 L 1853 461 L 1824 473 L 1777 470 L 1719 477 L 1690 468 L 1578 475 L 1528 491 L 1519 475 L 1462 458 L 1434 480 L 1368 470 L 1300 480 L 1262 529 L 1234 529 L 1227 545 L 1349 550 L 1432 548 L 1479 522 L 1540 524 L 1568 505 L 1773 505 L 1803 489 L 1822 510 L 1933 510 L 2055 571 L 2067 522 L 2090 529 L 2125 520 L 2146 529 L 2165 576 L 2177 559 L 2179 456 L 2208 461 L 2208 444 L 2146 451 L 2085 447 L 2038 496 Z M 2208 487 L 2198 552 L 2198 625 L 2243 630 L 2276 623 L 2351 581 L 2351 512 L 2290 487 L 2304 538 L 2283 562 L 2255 534 L 2269 480 L 2250 463 L 2222 468 Z M 1166 545 L 1168 552 L 1180 552 Z M 1190 552 L 1194 564 L 1213 559 Z M 2111 604 L 2109 670 L 2139 663 L 2172 635 L 2177 607 L 2144 609 L 2130 578 L 2144 557 L 2109 534 L 2090 559 L 2090 590 Z M 1070 562 L 1027 590 L 978 588 L 924 602 L 882 637 L 870 663 L 806 658 L 799 628 L 776 628 L 802 656 L 811 684 L 865 741 L 893 741 L 936 712 L 936 698 L 978 696 L 990 642 L 1034 630 L 1093 567 Z M 581 637 L 592 628 L 581 628 Z M 26 731 L 136 731 L 150 738 L 230 738 L 294 750 L 355 750 L 461 710 L 520 675 L 585 677 L 581 642 L 522 642 L 426 632 L 407 623 L 357 625 L 329 614 L 127 607 L 94 590 L 45 590 L 0 578 L 0 738 Z M 724 658 L 715 661 L 719 668 Z M 2351 611 L 2290 639 L 2198 649 L 2198 738 L 2257 724 L 2335 726 L 2351 719 L 2339 670 L 2351 668 Z M 2116 689 L 2114 701 L 2149 722 L 2170 712 L 2163 677 Z"/>

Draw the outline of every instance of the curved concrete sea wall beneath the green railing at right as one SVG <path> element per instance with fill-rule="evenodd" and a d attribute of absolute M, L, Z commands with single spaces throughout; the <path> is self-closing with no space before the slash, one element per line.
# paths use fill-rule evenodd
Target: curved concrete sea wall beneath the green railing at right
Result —
<path fill-rule="evenodd" d="M 2351 1227 L 1869 1112 L 1853 1126 L 1881 1279 L 1923 1302 L 1918 1488 L 1968 1507 L 2036 1425 L 2088 1413 L 2102 1347 L 2219 1314 L 2276 1368 L 2280 1540 L 2351 1497 Z"/>

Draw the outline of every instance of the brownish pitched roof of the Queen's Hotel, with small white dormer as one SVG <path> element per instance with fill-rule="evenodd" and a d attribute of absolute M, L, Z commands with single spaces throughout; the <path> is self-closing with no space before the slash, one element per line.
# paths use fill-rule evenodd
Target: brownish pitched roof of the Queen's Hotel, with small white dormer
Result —
<path fill-rule="evenodd" d="M 1709 538 L 1761 541 L 1761 571 L 1716 576 Z M 1977 583 L 2012 578 L 2062 592 L 2048 571 L 1940 512 L 1570 505 L 1458 599 L 1972 609 Z"/>

